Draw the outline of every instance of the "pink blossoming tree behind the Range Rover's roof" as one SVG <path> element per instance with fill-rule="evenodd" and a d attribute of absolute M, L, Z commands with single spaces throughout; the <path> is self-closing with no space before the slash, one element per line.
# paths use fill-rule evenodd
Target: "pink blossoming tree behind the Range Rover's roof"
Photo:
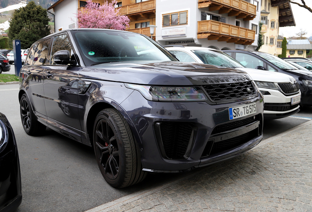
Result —
<path fill-rule="evenodd" d="M 115 9 L 117 0 L 100 5 L 87 0 L 86 7 L 78 11 L 78 28 L 107 28 L 125 30 L 129 27 L 128 16 L 119 15 L 120 9 Z"/>

